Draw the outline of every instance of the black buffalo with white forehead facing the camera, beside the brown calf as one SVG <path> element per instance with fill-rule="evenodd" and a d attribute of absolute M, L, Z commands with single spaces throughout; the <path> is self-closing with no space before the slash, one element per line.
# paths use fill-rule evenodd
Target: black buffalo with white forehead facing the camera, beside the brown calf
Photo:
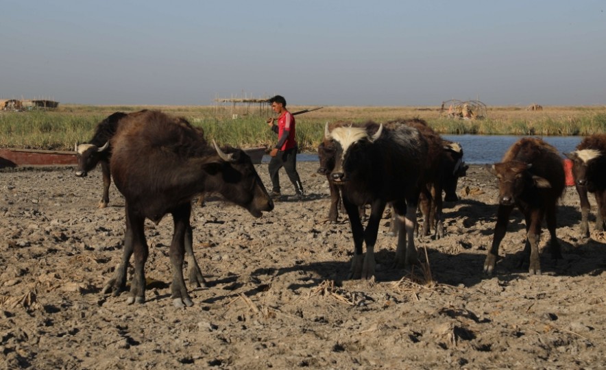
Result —
<path fill-rule="evenodd" d="M 336 127 L 330 131 L 326 125 L 325 136 L 336 147 L 335 169 L 330 176 L 341 188 L 352 227 L 355 250 L 351 277 L 369 279 L 375 272 L 374 245 L 387 202 L 393 205 L 400 228 L 406 230 L 399 233 L 396 267 L 418 262 L 413 233 L 419 193 L 425 186 L 422 180 L 428 167 L 428 149 L 413 127 L 367 125 L 377 127 L 376 132 L 369 134 L 374 131 L 372 127 Z M 358 206 L 365 204 L 371 205 L 366 228 L 358 213 Z M 366 243 L 365 257 L 363 243 Z"/>

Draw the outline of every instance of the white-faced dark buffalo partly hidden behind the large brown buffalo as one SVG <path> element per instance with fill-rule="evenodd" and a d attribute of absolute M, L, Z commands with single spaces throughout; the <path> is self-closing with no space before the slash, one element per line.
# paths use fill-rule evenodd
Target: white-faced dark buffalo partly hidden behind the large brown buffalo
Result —
<path fill-rule="evenodd" d="M 78 167 L 75 175 L 85 177 L 89 171 L 93 171 L 98 163 L 101 163 L 101 173 L 103 174 L 103 195 L 99 201 L 99 208 L 106 208 L 110 202 L 110 184 L 112 183 L 110 174 L 110 158 L 112 158 L 112 148 L 110 139 L 117 131 L 120 120 L 127 116 L 123 112 L 115 112 L 97 125 L 93 138 L 88 143 L 78 145 L 76 143 L 74 150 L 78 158 Z"/>

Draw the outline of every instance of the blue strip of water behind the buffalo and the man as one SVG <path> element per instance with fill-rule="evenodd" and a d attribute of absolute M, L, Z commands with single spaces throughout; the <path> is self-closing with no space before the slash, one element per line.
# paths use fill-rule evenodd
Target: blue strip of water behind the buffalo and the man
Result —
<path fill-rule="evenodd" d="M 442 135 L 446 140 L 455 141 L 463 147 L 463 159 L 468 164 L 500 162 L 505 151 L 523 136 L 496 135 Z M 542 136 L 560 153 L 573 151 L 583 136 Z M 269 163 L 269 156 L 263 156 L 263 163 Z M 317 153 L 299 153 L 298 162 L 317 162 Z"/>

